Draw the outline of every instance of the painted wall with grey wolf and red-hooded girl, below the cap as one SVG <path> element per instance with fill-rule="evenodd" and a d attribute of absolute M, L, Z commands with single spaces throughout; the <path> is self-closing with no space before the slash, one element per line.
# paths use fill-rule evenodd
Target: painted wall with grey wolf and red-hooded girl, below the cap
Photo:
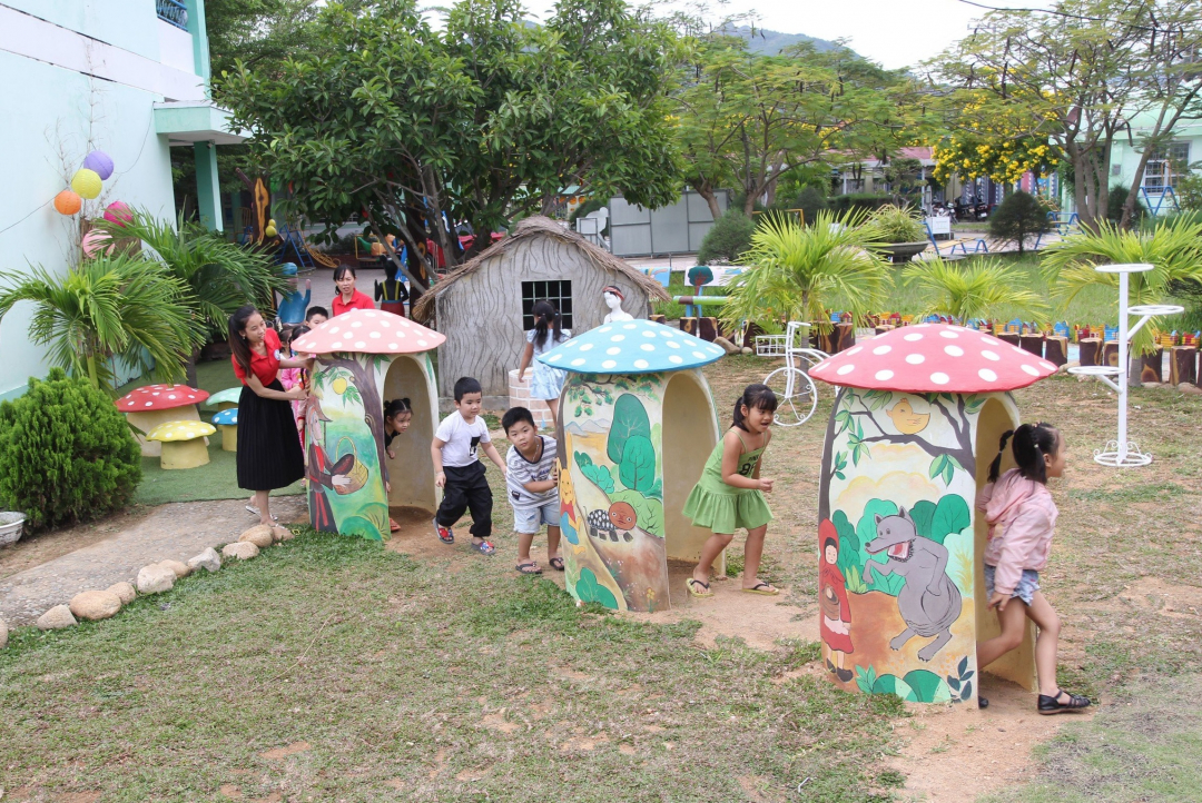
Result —
<path fill-rule="evenodd" d="M 975 501 L 998 436 L 1017 423 L 1008 394 L 840 391 L 819 497 L 819 618 L 832 681 L 976 705 L 977 623 L 988 617 L 977 607 L 986 531 Z"/>

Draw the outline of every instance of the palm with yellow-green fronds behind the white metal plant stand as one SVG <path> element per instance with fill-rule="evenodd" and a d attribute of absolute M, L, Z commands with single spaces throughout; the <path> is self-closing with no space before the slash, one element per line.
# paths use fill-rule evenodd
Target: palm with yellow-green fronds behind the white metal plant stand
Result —
<path fill-rule="evenodd" d="M 1125 230 L 1099 221 L 1096 232 L 1082 232 L 1049 245 L 1043 251 L 1043 277 L 1054 298 L 1069 304 L 1090 284 L 1118 287 L 1117 274 L 1100 274 L 1097 265 L 1144 263 L 1147 272 L 1129 275 L 1127 298 L 1138 304 L 1171 304 L 1173 289 L 1202 283 L 1202 221 L 1178 218 L 1146 230 Z M 1156 350 L 1153 318 L 1131 341 L 1131 355 Z"/>

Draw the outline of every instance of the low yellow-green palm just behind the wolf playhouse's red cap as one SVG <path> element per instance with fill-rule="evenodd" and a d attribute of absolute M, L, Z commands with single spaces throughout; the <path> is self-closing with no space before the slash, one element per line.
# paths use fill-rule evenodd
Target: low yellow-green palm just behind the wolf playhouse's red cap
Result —
<path fill-rule="evenodd" d="M 974 259 L 971 263 L 927 259 L 910 263 L 902 275 L 924 292 L 923 316 L 945 314 L 968 323 L 974 318 L 989 318 L 1002 306 L 1018 307 L 1020 314 L 1047 311 L 1047 304 L 1037 293 L 1019 289 L 1025 283 L 1023 271 L 998 259 Z"/>

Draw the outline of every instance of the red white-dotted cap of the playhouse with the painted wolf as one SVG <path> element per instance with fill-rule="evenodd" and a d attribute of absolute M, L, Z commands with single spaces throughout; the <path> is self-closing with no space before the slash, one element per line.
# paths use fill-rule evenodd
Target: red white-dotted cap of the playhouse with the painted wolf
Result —
<path fill-rule="evenodd" d="M 983 331 L 923 323 L 869 337 L 822 360 L 810 376 L 867 390 L 982 394 L 1025 388 L 1055 370 Z"/>

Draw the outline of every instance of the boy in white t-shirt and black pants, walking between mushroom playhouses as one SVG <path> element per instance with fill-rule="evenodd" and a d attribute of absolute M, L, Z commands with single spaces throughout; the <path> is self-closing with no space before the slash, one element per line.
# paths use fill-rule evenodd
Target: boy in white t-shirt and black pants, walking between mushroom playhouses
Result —
<path fill-rule="evenodd" d="M 465 510 L 471 510 L 471 547 L 481 555 L 492 555 L 496 551 L 488 540 L 493 533 L 493 490 L 488 487 L 484 463 L 476 459 L 476 449 L 483 444 L 484 454 L 501 469 L 501 474 L 505 474 L 505 461 L 496 453 L 488 437 L 488 425 L 480 417 L 482 392 L 480 382 L 471 377 L 456 382 L 456 412 L 442 419 L 434 433 L 430 444 L 434 484 L 442 489 L 442 504 L 434 514 L 434 531 L 444 544 L 454 544 L 451 528 Z"/>

